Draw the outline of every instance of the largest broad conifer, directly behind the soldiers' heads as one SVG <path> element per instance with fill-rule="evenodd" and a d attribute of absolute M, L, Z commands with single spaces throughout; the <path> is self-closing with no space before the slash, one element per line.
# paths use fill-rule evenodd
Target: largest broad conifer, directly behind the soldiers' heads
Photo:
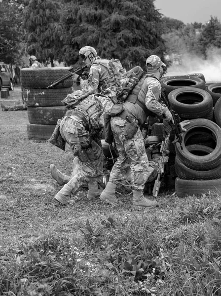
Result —
<path fill-rule="evenodd" d="M 64 59 L 78 61 L 82 46 L 105 58 L 119 58 L 125 68 L 145 67 L 151 54 L 164 58 L 161 14 L 154 0 L 64 0 Z"/>

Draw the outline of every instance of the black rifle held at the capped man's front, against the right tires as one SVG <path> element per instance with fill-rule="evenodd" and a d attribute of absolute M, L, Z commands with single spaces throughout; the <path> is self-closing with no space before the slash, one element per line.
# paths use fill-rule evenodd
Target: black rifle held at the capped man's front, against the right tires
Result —
<path fill-rule="evenodd" d="M 174 110 L 172 109 L 165 90 L 162 91 L 161 98 L 162 98 L 163 102 L 166 104 L 167 108 L 169 109 L 169 111 L 171 112 L 172 117 L 173 117 L 173 122 L 169 123 L 168 127 L 165 129 L 165 133 L 169 134 L 171 131 L 174 131 L 175 135 L 176 135 L 176 139 L 172 142 L 172 144 L 179 142 L 180 147 L 183 150 L 183 146 L 182 146 L 183 136 L 182 136 L 181 118 L 180 118 L 179 114 L 175 113 Z"/>

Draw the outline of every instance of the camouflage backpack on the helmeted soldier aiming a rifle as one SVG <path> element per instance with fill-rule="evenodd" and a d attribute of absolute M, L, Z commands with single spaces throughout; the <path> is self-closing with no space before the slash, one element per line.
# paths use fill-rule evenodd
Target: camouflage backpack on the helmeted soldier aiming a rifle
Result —
<path fill-rule="evenodd" d="M 111 59 L 109 60 L 109 66 L 108 66 L 108 60 L 96 60 L 93 64 L 100 64 L 104 67 L 108 68 L 111 72 L 111 76 L 115 78 L 115 81 L 118 86 L 120 86 L 121 79 L 126 74 L 126 70 L 123 68 L 123 66 L 120 63 L 119 59 Z"/>

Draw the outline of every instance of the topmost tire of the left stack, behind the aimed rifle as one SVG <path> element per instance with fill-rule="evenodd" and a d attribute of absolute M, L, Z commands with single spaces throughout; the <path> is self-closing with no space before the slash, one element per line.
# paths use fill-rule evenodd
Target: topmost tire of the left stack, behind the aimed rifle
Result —
<path fill-rule="evenodd" d="M 66 74 L 70 74 L 68 67 L 56 67 L 56 68 L 24 68 L 21 70 L 21 83 L 24 88 L 46 88 L 53 81 L 61 78 Z M 72 87 L 72 76 L 66 79 L 64 82 L 59 83 L 56 88 Z"/>

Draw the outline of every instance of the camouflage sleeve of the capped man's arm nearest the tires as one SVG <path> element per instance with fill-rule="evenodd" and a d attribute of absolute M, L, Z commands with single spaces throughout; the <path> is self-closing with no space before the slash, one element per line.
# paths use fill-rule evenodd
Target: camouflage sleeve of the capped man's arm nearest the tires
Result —
<path fill-rule="evenodd" d="M 164 111 L 163 105 L 160 104 L 161 87 L 158 81 L 150 80 L 147 88 L 146 107 L 149 111 L 157 115 L 162 115 Z"/>

